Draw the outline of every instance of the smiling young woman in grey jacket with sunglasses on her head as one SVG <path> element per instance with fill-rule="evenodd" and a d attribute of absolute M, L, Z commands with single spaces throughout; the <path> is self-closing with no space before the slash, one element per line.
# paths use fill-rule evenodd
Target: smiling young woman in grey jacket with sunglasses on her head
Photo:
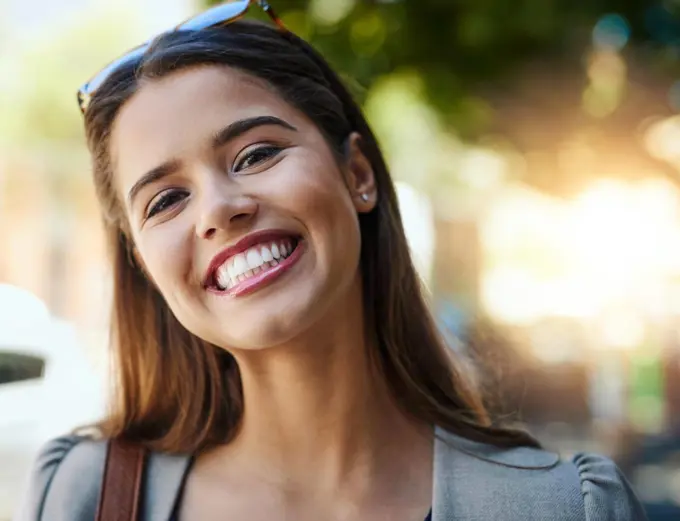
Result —
<path fill-rule="evenodd" d="M 94 519 L 111 439 L 149 451 L 144 521 L 644 519 L 611 461 L 492 426 L 360 109 L 250 3 L 81 89 L 119 394 L 102 437 L 48 444 L 19 519 Z"/>

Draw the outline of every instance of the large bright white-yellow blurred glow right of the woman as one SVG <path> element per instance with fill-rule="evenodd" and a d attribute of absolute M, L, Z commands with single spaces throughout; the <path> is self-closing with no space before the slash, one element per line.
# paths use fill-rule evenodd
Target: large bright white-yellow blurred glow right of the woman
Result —
<path fill-rule="evenodd" d="M 647 289 L 680 276 L 680 195 L 661 178 L 602 181 L 569 201 L 511 188 L 484 223 L 484 301 L 500 320 L 601 315 L 606 343 L 632 346 L 637 326 L 613 331 L 612 310 L 644 316 L 658 296 Z"/>

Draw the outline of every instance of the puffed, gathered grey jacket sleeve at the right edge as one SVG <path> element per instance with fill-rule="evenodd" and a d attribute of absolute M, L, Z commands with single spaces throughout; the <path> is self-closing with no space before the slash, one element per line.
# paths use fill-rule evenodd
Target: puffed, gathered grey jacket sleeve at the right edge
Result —
<path fill-rule="evenodd" d="M 578 470 L 587 521 L 647 521 L 630 483 L 610 459 L 578 454 Z"/>

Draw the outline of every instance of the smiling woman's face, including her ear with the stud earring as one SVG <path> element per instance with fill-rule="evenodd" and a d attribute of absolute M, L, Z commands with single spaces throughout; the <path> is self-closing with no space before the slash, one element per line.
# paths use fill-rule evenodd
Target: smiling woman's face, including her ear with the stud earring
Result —
<path fill-rule="evenodd" d="M 126 102 L 116 188 L 139 263 L 189 331 L 224 348 L 281 344 L 360 283 L 357 212 L 375 187 L 357 140 L 338 165 L 304 114 L 226 67 L 170 74 Z"/>

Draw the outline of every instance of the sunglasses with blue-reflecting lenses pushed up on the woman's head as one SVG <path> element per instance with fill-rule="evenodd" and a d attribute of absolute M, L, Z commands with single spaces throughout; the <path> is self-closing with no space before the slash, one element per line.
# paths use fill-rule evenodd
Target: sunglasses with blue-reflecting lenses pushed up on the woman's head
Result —
<path fill-rule="evenodd" d="M 203 13 L 189 18 L 185 22 L 173 27 L 166 32 L 173 31 L 200 31 L 201 29 L 208 29 L 211 27 L 221 27 L 228 25 L 240 18 L 242 18 L 247 12 L 248 8 L 252 4 L 259 5 L 265 13 L 274 21 L 274 23 L 279 26 L 282 30 L 286 30 L 281 19 L 276 16 L 274 10 L 271 8 L 266 0 L 239 0 L 235 2 L 227 2 Z M 101 71 L 99 71 L 90 81 L 83 85 L 78 90 L 78 106 L 80 111 L 85 114 L 87 107 L 90 104 L 92 96 L 97 91 L 97 89 L 106 81 L 106 79 L 111 76 L 116 70 L 118 70 L 123 65 L 130 63 L 140 56 L 142 56 L 146 50 L 149 48 L 152 40 L 144 42 L 142 45 L 131 49 L 126 52 L 120 58 L 112 61 Z"/>

